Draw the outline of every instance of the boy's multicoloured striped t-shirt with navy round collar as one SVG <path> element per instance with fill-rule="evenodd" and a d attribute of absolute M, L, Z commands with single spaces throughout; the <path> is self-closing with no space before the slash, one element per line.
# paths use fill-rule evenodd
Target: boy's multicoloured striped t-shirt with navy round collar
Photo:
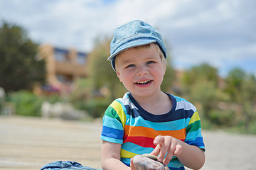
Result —
<path fill-rule="evenodd" d="M 135 155 L 154 150 L 157 135 L 169 135 L 205 149 L 196 107 L 183 98 L 168 95 L 173 106 L 166 114 L 153 115 L 145 111 L 130 93 L 114 100 L 105 111 L 100 138 L 122 144 L 121 161 L 127 166 Z M 168 166 L 169 169 L 184 169 L 176 157 Z"/>

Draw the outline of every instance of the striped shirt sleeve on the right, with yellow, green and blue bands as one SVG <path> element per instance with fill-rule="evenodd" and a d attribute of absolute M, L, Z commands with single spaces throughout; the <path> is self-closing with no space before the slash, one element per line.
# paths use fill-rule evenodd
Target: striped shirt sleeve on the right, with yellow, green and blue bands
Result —
<path fill-rule="evenodd" d="M 191 120 L 186 127 L 186 139 L 184 142 L 188 145 L 196 145 L 201 149 L 205 149 L 203 136 L 201 134 L 201 120 L 197 111 L 193 113 Z"/>

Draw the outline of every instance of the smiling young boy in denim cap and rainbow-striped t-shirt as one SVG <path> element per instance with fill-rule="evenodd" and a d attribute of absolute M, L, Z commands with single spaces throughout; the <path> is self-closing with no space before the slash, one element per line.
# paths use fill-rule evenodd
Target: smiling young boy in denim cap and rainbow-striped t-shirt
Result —
<path fill-rule="evenodd" d="M 102 127 L 102 169 L 134 170 L 132 157 L 150 153 L 169 169 L 201 169 L 201 123 L 188 101 L 161 91 L 166 47 L 149 24 L 132 21 L 114 31 L 112 68 L 129 91 L 107 108 Z"/>

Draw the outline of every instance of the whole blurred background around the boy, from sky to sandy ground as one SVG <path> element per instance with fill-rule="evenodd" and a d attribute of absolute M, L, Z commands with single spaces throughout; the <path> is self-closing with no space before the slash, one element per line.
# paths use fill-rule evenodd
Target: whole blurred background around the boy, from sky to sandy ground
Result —
<path fill-rule="evenodd" d="M 59 159 L 100 168 L 102 115 L 126 92 L 107 62 L 110 40 L 135 19 L 166 42 L 162 90 L 198 109 L 205 169 L 255 169 L 255 8 L 254 0 L 0 1 L 0 169 Z"/>

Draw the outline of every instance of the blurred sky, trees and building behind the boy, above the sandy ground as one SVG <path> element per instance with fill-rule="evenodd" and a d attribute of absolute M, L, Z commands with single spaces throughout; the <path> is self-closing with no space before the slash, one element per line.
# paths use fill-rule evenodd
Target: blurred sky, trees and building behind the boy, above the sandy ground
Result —
<path fill-rule="evenodd" d="M 256 134 L 255 1 L 0 2 L 1 115 L 101 118 L 126 91 L 107 62 L 115 28 L 140 19 L 169 52 L 162 90 L 203 128 Z"/>

